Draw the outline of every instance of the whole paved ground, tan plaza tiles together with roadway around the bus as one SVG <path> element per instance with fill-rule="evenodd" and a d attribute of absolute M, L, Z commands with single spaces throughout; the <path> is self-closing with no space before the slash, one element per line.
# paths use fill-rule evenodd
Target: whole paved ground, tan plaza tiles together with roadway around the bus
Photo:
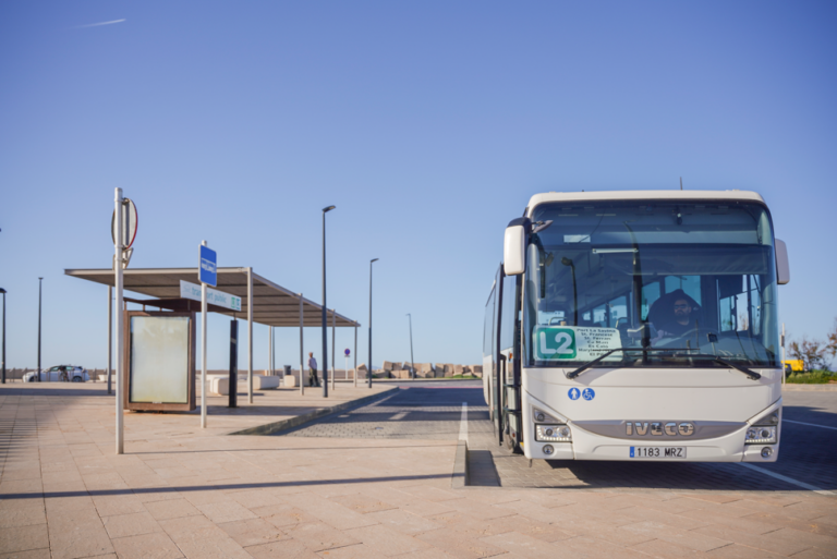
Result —
<path fill-rule="evenodd" d="M 786 393 L 781 458 L 754 471 L 530 467 L 497 447 L 474 384 L 392 388 L 270 436 L 230 434 L 369 391 L 210 398 L 207 429 L 128 413 L 116 455 L 101 385 L 0 387 L 0 557 L 837 557 L 837 392 Z M 463 437 L 474 485 L 457 488 Z"/>

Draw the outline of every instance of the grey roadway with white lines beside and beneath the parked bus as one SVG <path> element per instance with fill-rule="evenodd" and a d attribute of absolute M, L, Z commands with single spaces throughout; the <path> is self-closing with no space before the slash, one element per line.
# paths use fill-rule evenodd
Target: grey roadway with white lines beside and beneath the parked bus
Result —
<path fill-rule="evenodd" d="M 392 382 L 390 398 L 324 417 L 280 436 L 456 440 L 468 404 L 472 484 L 646 490 L 804 490 L 780 476 L 837 491 L 837 392 L 786 392 L 775 463 L 530 461 L 495 439 L 480 381 Z M 810 424 L 810 425 L 804 425 Z M 830 427 L 830 428 L 826 428 Z"/>

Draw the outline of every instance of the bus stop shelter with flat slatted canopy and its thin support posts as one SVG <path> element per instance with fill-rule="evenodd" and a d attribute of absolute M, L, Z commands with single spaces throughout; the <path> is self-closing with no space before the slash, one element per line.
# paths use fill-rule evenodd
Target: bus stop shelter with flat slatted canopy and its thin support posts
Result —
<path fill-rule="evenodd" d="M 247 321 L 246 351 L 248 402 L 253 403 L 253 324 L 262 324 L 270 327 L 300 328 L 300 388 L 302 390 L 304 385 L 303 370 L 305 369 L 303 328 L 323 326 L 323 306 L 305 299 L 302 293 L 294 293 L 291 290 L 255 274 L 252 267 L 218 268 L 217 272 L 218 284 L 215 289 L 241 297 L 241 311 L 230 311 L 229 308 L 209 304 L 209 312 L 223 314 L 236 319 L 246 319 Z M 114 287 L 112 269 L 65 269 L 64 274 L 74 278 L 108 285 L 108 301 L 110 302 L 110 288 Z M 137 300 L 123 297 L 123 301 L 120 302 L 120 304 L 124 306 L 130 302 L 158 307 L 160 309 L 199 312 L 199 301 L 181 297 L 181 281 L 196 283 L 197 277 L 197 268 L 126 269 L 123 271 L 124 290 L 146 295 L 149 299 Z M 332 327 L 332 339 L 333 328 L 355 328 L 356 340 L 356 328 L 360 326 L 360 323 L 342 316 L 333 309 L 327 309 L 326 312 L 328 323 Z M 110 316 L 108 317 L 108 320 L 109 325 L 112 324 L 110 321 Z M 108 328 L 108 344 L 110 347 L 110 328 Z M 122 364 L 119 364 L 118 366 L 121 368 Z M 233 387 L 230 387 L 230 391 L 232 392 L 233 390 Z"/>

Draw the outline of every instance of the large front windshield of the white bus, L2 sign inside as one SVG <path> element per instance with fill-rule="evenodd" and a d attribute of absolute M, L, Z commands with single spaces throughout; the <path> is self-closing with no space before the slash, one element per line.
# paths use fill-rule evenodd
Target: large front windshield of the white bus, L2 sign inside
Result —
<path fill-rule="evenodd" d="M 631 351 L 598 366 L 724 366 L 713 355 L 779 366 L 764 206 L 553 203 L 532 221 L 539 231 L 526 248 L 527 366 L 581 366 L 620 348 Z"/>

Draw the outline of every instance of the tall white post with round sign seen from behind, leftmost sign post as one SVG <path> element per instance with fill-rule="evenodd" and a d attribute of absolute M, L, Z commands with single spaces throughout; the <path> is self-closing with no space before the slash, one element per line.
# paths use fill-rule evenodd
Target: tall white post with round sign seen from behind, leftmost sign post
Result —
<path fill-rule="evenodd" d="M 122 197 L 122 189 L 114 190 L 113 216 L 110 220 L 110 234 L 113 239 L 113 283 L 116 284 L 117 299 L 117 454 L 125 451 L 124 430 L 124 392 L 125 390 L 125 363 L 124 363 L 124 316 L 125 303 L 123 297 L 122 270 L 128 268 L 134 250 L 131 245 L 136 239 L 136 226 L 138 219 L 136 206 L 130 198 Z"/>

